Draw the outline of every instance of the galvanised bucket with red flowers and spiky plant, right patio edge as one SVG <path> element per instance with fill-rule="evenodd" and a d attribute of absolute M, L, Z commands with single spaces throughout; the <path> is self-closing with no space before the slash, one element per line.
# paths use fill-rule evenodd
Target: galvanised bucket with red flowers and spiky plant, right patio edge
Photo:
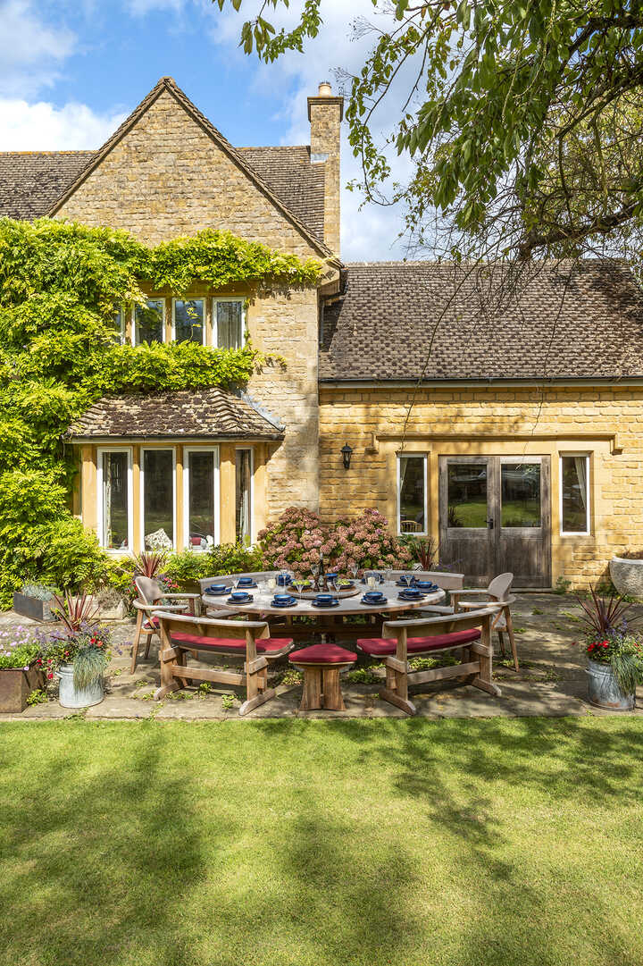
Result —
<path fill-rule="evenodd" d="M 600 597 L 590 586 L 591 600 L 576 598 L 584 613 L 588 698 L 608 711 L 631 711 L 636 686 L 643 683 L 643 640 L 625 619 L 631 604 L 611 594 Z"/>

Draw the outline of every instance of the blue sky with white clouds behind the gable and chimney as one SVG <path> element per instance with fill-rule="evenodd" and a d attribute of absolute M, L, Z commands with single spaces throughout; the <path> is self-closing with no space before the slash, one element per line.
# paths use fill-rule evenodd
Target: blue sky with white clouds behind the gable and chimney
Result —
<path fill-rule="evenodd" d="M 245 0 L 245 15 L 255 7 Z M 164 74 L 233 144 L 308 143 L 306 95 L 333 68 L 359 66 L 368 38 L 353 41 L 347 17 L 373 18 L 371 0 L 324 10 L 305 54 L 261 65 L 238 48 L 243 17 L 210 0 L 0 0 L 0 150 L 97 148 Z M 344 133 L 346 183 L 357 167 Z M 358 201 L 344 192 L 343 257 L 403 257 L 400 213 Z"/>

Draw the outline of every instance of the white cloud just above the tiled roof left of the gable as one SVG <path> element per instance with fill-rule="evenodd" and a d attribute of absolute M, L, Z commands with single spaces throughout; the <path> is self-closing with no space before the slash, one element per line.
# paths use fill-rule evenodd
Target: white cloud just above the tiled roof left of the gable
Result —
<path fill-rule="evenodd" d="M 96 114 L 86 104 L 0 98 L 0 151 L 94 150 L 126 114 Z"/>

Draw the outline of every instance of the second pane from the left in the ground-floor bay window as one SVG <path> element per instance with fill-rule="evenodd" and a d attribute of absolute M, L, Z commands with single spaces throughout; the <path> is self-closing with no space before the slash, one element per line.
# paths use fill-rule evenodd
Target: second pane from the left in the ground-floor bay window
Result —
<path fill-rule="evenodd" d="M 174 449 L 144 449 L 141 453 L 141 545 L 144 550 L 170 550 L 175 530 Z"/>

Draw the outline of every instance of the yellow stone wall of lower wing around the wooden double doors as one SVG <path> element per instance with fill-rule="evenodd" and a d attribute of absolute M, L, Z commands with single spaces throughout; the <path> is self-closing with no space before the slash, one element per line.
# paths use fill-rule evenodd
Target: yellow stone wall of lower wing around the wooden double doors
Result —
<path fill-rule="evenodd" d="M 429 521 L 438 536 L 440 455 L 545 455 L 551 459 L 552 582 L 587 585 L 609 559 L 643 549 L 643 387 L 449 388 L 320 392 L 320 499 L 330 519 L 377 507 L 396 524 L 396 455 L 428 454 Z M 406 423 L 406 425 L 405 425 Z M 350 469 L 340 449 L 354 448 Z M 590 454 L 591 533 L 560 533 L 561 453 Z"/>

